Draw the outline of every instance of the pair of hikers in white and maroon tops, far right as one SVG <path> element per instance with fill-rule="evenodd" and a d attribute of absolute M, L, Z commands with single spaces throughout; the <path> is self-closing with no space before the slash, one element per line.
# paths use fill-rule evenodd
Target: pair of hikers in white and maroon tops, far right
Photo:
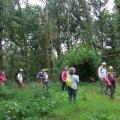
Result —
<path fill-rule="evenodd" d="M 105 93 L 106 95 L 110 95 L 113 99 L 116 89 L 116 73 L 114 72 L 113 67 L 109 66 L 107 70 L 106 62 L 103 62 L 98 68 L 98 76 L 100 79 L 101 94 Z M 106 86 L 105 91 L 104 86 Z M 108 90 L 110 90 L 110 93 L 108 93 Z"/>

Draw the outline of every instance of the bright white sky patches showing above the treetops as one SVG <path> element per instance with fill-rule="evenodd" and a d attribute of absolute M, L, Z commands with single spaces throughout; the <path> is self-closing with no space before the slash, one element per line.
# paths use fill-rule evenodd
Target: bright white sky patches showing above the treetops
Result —
<path fill-rule="evenodd" d="M 114 6 L 114 0 L 108 0 L 108 4 L 106 5 L 106 8 L 112 12 L 113 11 L 113 6 Z M 32 5 L 40 5 L 40 6 L 44 6 L 44 4 L 42 2 L 40 2 L 40 0 L 29 0 L 29 3 Z"/>

